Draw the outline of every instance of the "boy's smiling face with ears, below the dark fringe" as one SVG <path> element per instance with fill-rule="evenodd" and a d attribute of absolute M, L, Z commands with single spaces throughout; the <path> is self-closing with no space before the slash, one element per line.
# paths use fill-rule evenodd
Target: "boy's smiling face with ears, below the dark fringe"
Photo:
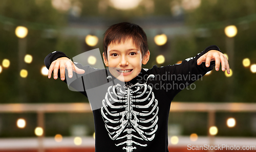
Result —
<path fill-rule="evenodd" d="M 141 71 L 141 65 L 150 59 L 147 51 L 142 59 L 141 50 L 133 45 L 132 39 L 127 39 L 120 44 L 111 43 L 108 46 L 108 59 L 103 53 L 103 59 L 110 73 L 120 81 L 128 82 L 137 77 Z"/>

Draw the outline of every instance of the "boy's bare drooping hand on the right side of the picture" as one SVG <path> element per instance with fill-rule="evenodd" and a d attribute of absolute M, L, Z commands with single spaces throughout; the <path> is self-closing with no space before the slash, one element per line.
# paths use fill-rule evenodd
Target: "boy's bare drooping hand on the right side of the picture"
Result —
<path fill-rule="evenodd" d="M 210 61 L 215 61 L 216 71 L 219 71 L 221 63 L 222 71 L 225 71 L 227 69 L 227 73 L 230 73 L 227 57 L 218 50 L 209 50 L 206 54 L 202 55 L 197 60 L 197 65 L 200 65 L 202 62 L 205 62 L 205 66 L 209 67 Z"/>

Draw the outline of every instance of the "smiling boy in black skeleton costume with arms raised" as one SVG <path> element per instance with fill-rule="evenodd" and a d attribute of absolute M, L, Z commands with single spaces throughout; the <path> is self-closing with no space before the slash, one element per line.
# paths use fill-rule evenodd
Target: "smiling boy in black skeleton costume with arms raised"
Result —
<path fill-rule="evenodd" d="M 105 80 L 107 77 L 108 82 L 111 81 L 109 78 L 117 79 L 99 93 L 103 94 L 101 106 L 93 109 L 96 151 L 168 151 L 168 114 L 174 96 L 214 66 L 218 71 L 220 63 L 222 71 L 227 69 L 229 73 L 228 61 L 216 45 L 208 46 L 181 64 L 141 68 L 149 60 L 150 52 L 146 34 L 133 23 L 111 26 L 104 34 L 103 47 L 104 64 L 109 70 L 73 63 L 61 52 L 50 53 L 45 59 L 49 79 L 53 71 L 55 80 L 59 77 L 67 83 L 65 67 L 69 78 L 75 74 L 72 71 L 79 75 L 96 72 L 93 76 L 83 77 L 84 87 L 91 86 L 80 91 L 86 96 L 89 95 L 86 90 L 99 86 L 93 86 L 92 79 Z M 177 75 L 182 78 L 178 79 Z M 183 75 L 189 79 L 182 80 Z M 111 84 L 108 82 L 105 84 Z M 120 85 L 122 82 L 125 85 Z M 91 100 L 90 104 L 93 105 Z"/>

